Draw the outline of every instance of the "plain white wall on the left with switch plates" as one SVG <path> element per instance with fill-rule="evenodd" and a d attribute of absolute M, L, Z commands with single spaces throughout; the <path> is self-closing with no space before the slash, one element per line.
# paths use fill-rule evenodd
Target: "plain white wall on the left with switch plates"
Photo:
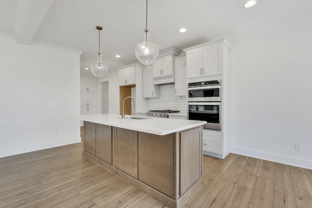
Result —
<path fill-rule="evenodd" d="M 3 37 L 0 46 L 0 157 L 79 142 L 80 53 Z"/>

